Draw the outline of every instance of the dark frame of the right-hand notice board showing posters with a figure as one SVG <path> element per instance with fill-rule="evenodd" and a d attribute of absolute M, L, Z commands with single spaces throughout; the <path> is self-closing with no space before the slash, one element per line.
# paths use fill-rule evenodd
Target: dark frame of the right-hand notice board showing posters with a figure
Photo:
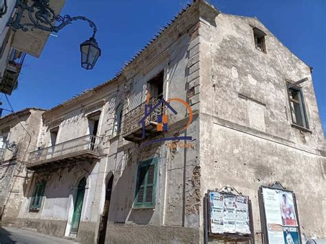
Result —
<path fill-rule="evenodd" d="M 263 243 L 265 244 L 273 244 L 270 243 L 268 240 L 268 227 L 267 227 L 267 221 L 266 221 L 266 212 L 265 212 L 265 204 L 263 201 L 263 188 L 268 188 L 272 190 L 281 190 L 283 192 L 290 192 L 293 197 L 293 203 L 294 203 L 294 212 L 296 214 L 296 223 L 298 223 L 298 226 L 295 227 L 298 229 L 298 240 L 300 244 L 303 244 L 301 239 L 301 229 L 300 229 L 300 220 L 298 217 L 298 206 L 296 203 L 296 195 L 292 190 L 287 190 L 284 188 L 279 182 L 275 181 L 271 186 L 260 186 L 258 190 L 258 200 L 259 200 L 259 210 L 260 210 L 260 216 L 261 216 L 261 231 L 263 232 Z"/>

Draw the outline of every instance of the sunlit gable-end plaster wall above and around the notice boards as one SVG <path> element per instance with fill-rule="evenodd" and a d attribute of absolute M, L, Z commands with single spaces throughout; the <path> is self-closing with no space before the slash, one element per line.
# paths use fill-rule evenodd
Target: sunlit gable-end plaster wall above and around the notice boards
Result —
<path fill-rule="evenodd" d="M 227 185 L 248 195 L 255 241 L 261 243 L 258 189 L 280 181 L 296 194 L 301 233 L 325 238 L 325 140 L 309 66 L 257 19 L 213 18 L 213 8 L 202 8 L 201 14 L 202 194 Z M 252 27 L 267 33 L 267 54 L 255 48 Z M 311 132 L 291 126 L 285 86 L 285 79 L 305 77 L 301 85 Z"/>

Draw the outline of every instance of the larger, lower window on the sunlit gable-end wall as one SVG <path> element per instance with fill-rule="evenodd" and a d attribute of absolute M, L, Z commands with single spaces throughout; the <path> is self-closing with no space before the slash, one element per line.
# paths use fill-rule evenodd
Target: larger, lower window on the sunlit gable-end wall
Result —
<path fill-rule="evenodd" d="M 292 122 L 298 126 L 309 129 L 302 89 L 299 87 L 291 87 L 287 89 L 287 93 L 290 100 Z"/>

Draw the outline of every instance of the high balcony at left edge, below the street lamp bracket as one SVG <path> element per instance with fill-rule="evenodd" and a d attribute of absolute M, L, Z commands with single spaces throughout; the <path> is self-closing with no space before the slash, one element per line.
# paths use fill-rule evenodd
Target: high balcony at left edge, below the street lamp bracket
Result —
<path fill-rule="evenodd" d="M 25 53 L 12 49 L 9 55 L 7 67 L 3 72 L 3 77 L 0 83 L 0 92 L 10 95 L 17 88 L 17 80 L 21 73 L 21 67 L 25 59 Z"/>

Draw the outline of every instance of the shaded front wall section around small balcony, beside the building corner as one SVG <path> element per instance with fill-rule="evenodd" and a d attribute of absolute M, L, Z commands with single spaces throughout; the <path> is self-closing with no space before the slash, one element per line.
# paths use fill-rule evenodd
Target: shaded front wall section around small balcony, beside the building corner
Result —
<path fill-rule="evenodd" d="M 139 57 L 139 60 L 144 60 L 143 63 L 139 63 L 137 59 L 122 73 L 127 78 L 122 96 L 123 113 L 126 114 L 145 101 L 146 82 L 164 70 L 163 97 L 166 100 L 181 98 L 193 109 L 194 118 L 191 126 L 180 133 L 180 136 L 193 137 L 192 142 L 187 141 L 193 144 L 193 148 L 171 149 L 167 147 L 170 142 L 139 148 L 133 142 L 122 140 L 121 136 L 111 139 L 106 171 L 108 175 L 114 175 L 114 181 L 107 241 L 117 240 L 123 243 L 131 239 L 136 240 L 136 236 L 144 229 L 142 226 L 147 226 L 149 240 L 152 239 L 152 235 L 155 236 L 153 232 L 155 228 L 159 228 L 165 230 L 166 236 L 161 236 L 162 239 L 172 241 L 173 233 L 169 225 L 184 227 L 178 229 L 180 232 L 184 231 L 184 234 L 190 231 L 195 236 L 199 235 L 199 206 L 202 196 L 197 161 L 199 100 L 198 91 L 195 89 L 195 86 L 199 85 L 198 10 L 199 4 L 195 3 L 185 16 L 177 20 L 176 27 L 163 33 L 151 48 Z M 169 113 L 169 132 L 164 133 L 164 137 L 175 136 L 175 133 L 188 122 L 189 114 L 186 107 L 177 102 L 171 102 L 171 105 L 177 111 L 177 115 Z M 148 140 L 160 137 L 162 136 L 151 137 Z M 160 158 L 155 208 L 133 208 L 138 163 L 153 157 Z M 154 225 L 156 227 L 151 228 Z M 131 226 L 139 228 L 133 229 L 133 232 L 126 232 L 126 228 Z M 118 235 L 118 230 L 123 235 Z"/>

